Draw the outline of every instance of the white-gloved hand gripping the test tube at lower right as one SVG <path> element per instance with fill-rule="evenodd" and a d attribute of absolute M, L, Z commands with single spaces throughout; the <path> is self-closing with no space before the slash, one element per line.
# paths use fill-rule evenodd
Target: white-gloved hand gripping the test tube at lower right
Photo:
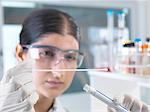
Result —
<path fill-rule="evenodd" d="M 142 101 L 137 100 L 134 97 L 129 95 L 124 95 L 123 98 L 114 99 L 118 100 L 129 112 L 150 112 L 150 106 L 143 103 Z M 108 107 L 108 112 L 117 112 L 111 107 Z"/>

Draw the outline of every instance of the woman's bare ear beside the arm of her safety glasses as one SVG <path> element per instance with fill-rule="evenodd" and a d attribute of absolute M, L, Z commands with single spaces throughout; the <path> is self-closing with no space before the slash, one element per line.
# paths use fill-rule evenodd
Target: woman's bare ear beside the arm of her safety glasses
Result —
<path fill-rule="evenodd" d="M 20 44 L 16 46 L 16 58 L 18 61 L 23 61 L 26 59 L 26 53 L 23 52 L 23 48 Z"/>

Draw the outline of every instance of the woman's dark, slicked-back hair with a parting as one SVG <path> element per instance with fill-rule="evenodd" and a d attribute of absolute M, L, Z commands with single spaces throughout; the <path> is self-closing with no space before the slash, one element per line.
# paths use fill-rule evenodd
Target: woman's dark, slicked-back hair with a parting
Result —
<path fill-rule="evenodd" d="M 32 12 L 23 22 L 20 44 L 30 45 L 42 35 L 58 33 L 69 34 L 79 42 L 79 28 L 68 14 L 54 9 L 40 9 Z"/>

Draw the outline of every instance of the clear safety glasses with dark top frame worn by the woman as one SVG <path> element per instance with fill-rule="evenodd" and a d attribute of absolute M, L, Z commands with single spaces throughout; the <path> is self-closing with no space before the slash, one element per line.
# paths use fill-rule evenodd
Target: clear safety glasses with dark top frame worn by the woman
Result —
<path fill-rule="evenodd" d="M 77 69 L 81 66 L 84 55 L 79 50 L 62 50 L 50 45 L 23 45 L 29 49 L 30 57 L 34 60 L 34 69 L 51 69 L 58 64 L 60 69 Z"/>

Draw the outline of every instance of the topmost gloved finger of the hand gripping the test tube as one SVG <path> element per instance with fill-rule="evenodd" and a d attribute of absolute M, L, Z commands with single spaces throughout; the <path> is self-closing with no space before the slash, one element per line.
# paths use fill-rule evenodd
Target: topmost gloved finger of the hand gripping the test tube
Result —
<path fill-rule="evenodd" d="M 133 105 L 133 102 L 134 102 L 134 98 L 131 97 L 130 95 L 124 95 L 124 99 L 123 99 L 123 102 L 122 102 L 122 105 L 127 109 L 127 110 L 130 110 L 132 105 Z"/>

